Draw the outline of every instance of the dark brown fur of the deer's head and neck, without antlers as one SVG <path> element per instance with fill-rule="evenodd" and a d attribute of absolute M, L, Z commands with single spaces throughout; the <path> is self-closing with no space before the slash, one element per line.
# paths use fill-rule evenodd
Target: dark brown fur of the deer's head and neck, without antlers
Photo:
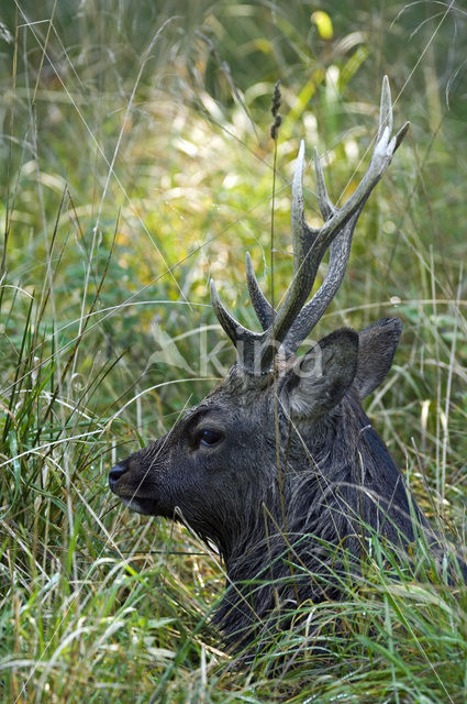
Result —
<path fill-rule="evenodd" d="M 293 360 L 262 381 L 234 365 L 169 433 L 112 470 L 111 488 L 130 508 L 181 515 L 218 546 L 227 590 L 214 622 L 229 644 L 267 632 L 281 604 L 336 596 L 338 550 L 358 562 L 365 525 L 397 547 L 426 526 L 360 405 L 389 370 L 400 330 L 383 319 L 359 336 L 329 336 L 321 374 L 308 377 Z M 222 440 L 201 444 L 207 429 Z"/>

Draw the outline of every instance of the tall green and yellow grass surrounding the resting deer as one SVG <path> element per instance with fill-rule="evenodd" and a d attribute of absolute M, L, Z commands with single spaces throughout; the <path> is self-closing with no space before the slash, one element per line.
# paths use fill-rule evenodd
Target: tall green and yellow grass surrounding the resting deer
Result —
<path fill-rule="evenodd" d="M 410 118 L 411 135 L 368 202 L 320 333 L 403 318 L 368 410 L 426 513 L 465 546 L 465 15 L 349 6 L 330 4 L 332 38 L 310 21 L 321 9 L 312 3 L 4 10 L 4 702 L 465 701 L 464 585 L 388 565 L 375 538 L 342 603 L 296 615 L 320 624 L 325 652 L 300 628 L 235 669 L 209 625 L 224 581 L 215 557 L 185 528 L 130 514 L 107 488 L 115 458 L 169 428 L 232 362 L 209 276 L 248 326 L 246 250 L 270 290 L 275 81 L 282 292 L 299 139 L 308 157 L 313 144 L 326 154 L 332 196 L 345 197 L 365 168 L 388 70 L 396 120 Z M 305 185 L 313 221 L 310 169 Z M 207 361 L 214 349 L 216 364 Z"/>

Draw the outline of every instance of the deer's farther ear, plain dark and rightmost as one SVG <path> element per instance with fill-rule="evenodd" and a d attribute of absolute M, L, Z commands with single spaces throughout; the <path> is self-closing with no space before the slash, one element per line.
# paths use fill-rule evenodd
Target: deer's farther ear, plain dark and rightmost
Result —
<path fill-rule="evenodd" d="M 402 324 L 399 318 L 381 318 L 358 334 L 358 365 L 353 388 L 360 400 L 371 394 L 389 372 Z"/>

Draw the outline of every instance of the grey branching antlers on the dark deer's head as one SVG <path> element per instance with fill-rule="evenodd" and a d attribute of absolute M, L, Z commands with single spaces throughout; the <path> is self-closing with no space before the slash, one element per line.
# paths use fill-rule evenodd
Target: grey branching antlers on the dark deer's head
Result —
<path fill-rule="evenodd" d="M 311 228 L 304 217 L 302 194 L 304 142 L 300 143 L 292 180 L 293 278 L 286 299 L 277 312 L 259 288 L 249 255 L 247 254 L 246 257 L 249 296 L 264 332 L 254 332 L 238 323 L 221 304 L 214 282 L 211 279 L 211 300 L 215 315 L 248 372 L 254 374 L 267 372 L 280 344 L 286 354 L 296 352 L 323 316 L 344 278 L 358 217 L 371 190 L 391 163 L 408 129 L 409 122 L 405 122 L 391 139 L 392 102 L 389 81 L 385 76 L 375 150 L 364 177 L 341 208 L 336 208 L 327 195 L 318 152 L 314 150 L 316 195 L 324 219 L 321 228 Z M 327 249 L 330 249 L 330 263 L 326 276 L 313 298 L 307 304 L 320 263 Z"/>

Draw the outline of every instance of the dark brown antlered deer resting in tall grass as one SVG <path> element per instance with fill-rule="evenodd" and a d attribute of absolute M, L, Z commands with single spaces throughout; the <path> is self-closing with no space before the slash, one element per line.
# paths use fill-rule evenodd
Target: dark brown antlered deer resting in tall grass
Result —
<path fill-rule="evenodd" d="M 391 367 L 402 321 L 342 328 L 298 353 L 344 279 L 357 220 L 407 134 L 409 122 L 392 136 L 392 121 L 385 76 L 369 165 L 341 207 L 314 148 L 319 228 L 304 216 L 301 141 L 291 185 L 293 276 L 281 305 L 276 310 L 264 295 L 249 253 L 246 282 L 260 332 L 233 317 L 211 279 L 235 363 L 169 432 L 109 474 L 110 490 L 130 509 L 181 520 L 216 547 L 226 588 L 212 620 L 234 651 L 290 625 L 281 612 L 338 598 L 335 574 L 358 570 L 365 529 L 404 553 L 421 536 L 437 544 L 363 409 Z M 325 276 L 310 298 L 326 252 Z"/>

